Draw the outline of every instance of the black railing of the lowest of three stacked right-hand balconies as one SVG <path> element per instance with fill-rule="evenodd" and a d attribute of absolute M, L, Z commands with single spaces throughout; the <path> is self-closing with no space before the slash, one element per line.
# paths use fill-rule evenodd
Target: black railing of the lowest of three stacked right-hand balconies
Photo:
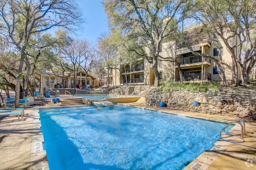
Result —
<path fill-rule="evenodd" d="M 176 75 L 176 80 L 180 80 L 180 75 Z M 188 73 L 182 75 L 183 81 L 211 80 L 211 73 Z"/>

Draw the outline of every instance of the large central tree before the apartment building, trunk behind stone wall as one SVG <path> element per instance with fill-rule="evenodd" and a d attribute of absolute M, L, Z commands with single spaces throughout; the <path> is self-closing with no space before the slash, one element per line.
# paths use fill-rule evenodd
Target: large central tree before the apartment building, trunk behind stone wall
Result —
<path fill-rule="evenodd" d="M 134 40 L 131 48 L 145 58 L 155 75 L 154 85 L 158 86 L 160 73 L 158 57 L 161 42 L 176 31 L 184 18 L 181 12 L 187 7 L 187 0 L 104 0 L 105 11 L 112 29 L 129 35 Z M 147 48 L 147 51 L 145 51 Z"/>

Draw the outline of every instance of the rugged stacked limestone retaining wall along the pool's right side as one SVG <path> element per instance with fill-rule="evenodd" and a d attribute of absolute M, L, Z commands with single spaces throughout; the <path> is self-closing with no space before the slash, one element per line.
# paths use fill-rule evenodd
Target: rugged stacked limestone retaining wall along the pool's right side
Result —
<path fill-rule="evenodd" d="M 161 88 L 152 88 L 146 96 L 145 106 L 158 107 L 160 101 L 174 110 L 256 119 L 256 90 L 227 88 L 202 92 L 162 92 Z M 193 106 L 193 101 L 198 101 L 199 106 Z"/>

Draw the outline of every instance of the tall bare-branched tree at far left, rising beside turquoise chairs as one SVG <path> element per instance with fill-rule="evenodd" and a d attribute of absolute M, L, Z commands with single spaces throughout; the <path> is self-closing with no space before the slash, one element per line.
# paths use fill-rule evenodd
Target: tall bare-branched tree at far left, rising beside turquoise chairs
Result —
<path fill-rule="evenodd" d="M 19 107 L 20 79 L 30 38 L 53 27 L 74 31 L 83 20 L 72 0 L 1 0 L 0 34 L 20 52 L 16 77 L 15 107 Z"/>

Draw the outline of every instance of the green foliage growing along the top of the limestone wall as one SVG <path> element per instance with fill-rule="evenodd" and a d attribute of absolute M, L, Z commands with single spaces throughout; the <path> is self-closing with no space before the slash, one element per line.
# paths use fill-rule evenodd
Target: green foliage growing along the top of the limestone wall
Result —
<path fill-rule="evenodd" d="M 166 82 L 161 85 L 162 91 L 169 90 L 188 90 L 188 91 L 207 91 L 207 90 L 220 90 L 221 85 L 217 83 L 182 83 L 182 82 Z"/>

